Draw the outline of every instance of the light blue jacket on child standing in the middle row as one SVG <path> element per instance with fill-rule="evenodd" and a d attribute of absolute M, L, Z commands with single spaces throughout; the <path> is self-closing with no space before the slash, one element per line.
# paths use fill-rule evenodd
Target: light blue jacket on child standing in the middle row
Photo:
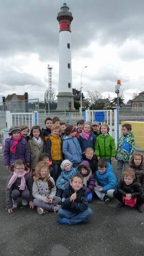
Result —
<path fill-rule="evenodd" d="M 65 159 L 68 159 L 71 163 L 82 162 L 82 150 L 75 137 L 68 137 L 67 135 L 63 137 L 62 152 Z"/>

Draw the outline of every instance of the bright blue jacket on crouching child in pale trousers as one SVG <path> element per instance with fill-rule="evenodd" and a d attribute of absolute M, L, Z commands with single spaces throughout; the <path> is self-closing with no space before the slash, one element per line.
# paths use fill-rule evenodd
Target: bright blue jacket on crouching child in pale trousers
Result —
<path fill-rule="evenodd" d="M 104 193 L 109 189 L 116 189 L 117 180 L 115 174 L 113 173 L 113 167 L 109 164 L 104 173 L 100 173 L 99 171 L 95 172 L 95 181 L 102 187 L 102 191 Z"/>

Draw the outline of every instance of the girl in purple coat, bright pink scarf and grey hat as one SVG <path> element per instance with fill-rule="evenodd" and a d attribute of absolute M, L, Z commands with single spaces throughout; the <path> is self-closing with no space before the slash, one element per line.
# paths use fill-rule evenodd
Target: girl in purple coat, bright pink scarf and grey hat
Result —
<path fill-rule="evenodd" d="M 28 144 L 21 136 L 20 127 L 13 125 L 9 131 L 10 138 L 5 140 L 4 145 L 4 165 L 6 169 L 10 168 L 15 160 L 21 159 L 23 164 L 29 165 L 30 155 L 28 150 Z"/>

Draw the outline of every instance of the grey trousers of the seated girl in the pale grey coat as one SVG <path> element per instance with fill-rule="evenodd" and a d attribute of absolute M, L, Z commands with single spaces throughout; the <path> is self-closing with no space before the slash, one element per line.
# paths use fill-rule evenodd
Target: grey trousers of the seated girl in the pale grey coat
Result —
<path fill-rule="evenodd" d="M 53 197 L 53 201 L 51 204 L 50 203 L 47 204 L 40 199 L 36 199 L 36 198 L 34 199 L 34 205 L 36 207 L 40 207 L 43 210 L 50 211 L 50 212 L 53 211 L 54 206 L 57 204 L 61 204 L 61 198 L 58 196 Z"/>

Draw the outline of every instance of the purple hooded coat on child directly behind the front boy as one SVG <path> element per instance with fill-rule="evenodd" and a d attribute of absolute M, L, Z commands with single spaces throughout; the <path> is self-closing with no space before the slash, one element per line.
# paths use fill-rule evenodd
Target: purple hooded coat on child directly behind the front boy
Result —
<path fill-rule="evenodd" d="M 87 170 L 87 174 L 82 174 L 81 172 L 82 167 L 84 167 Z M 77 171 L 83 177 L 83 183 L 86 186 L 87 194 L 93 193 L 95 184 L 94 184 L 94 176 L 92 174 L 91 169 L 85 165 L 79 165 L 77 167 Z"/>

